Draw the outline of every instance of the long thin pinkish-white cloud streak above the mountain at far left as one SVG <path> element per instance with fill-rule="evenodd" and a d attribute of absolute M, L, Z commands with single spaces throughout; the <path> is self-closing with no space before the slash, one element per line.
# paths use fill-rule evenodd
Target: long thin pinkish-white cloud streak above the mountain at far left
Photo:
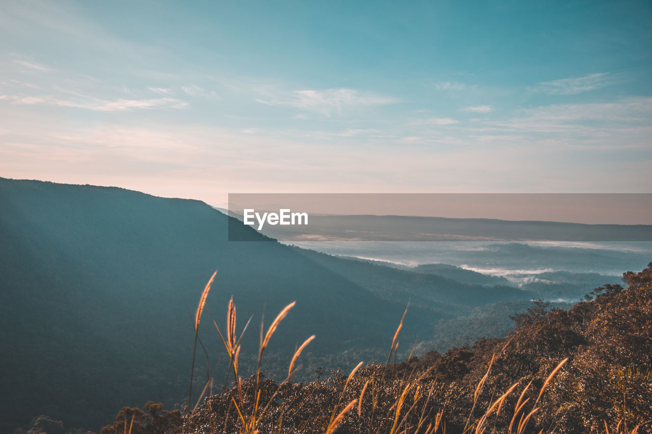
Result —
<path fill-rule="evenodd" d="M 59 98 L 53 95 L 44 96 L 10 96 L 16 104 L 44 104 L 59 107 L 83 108 L 95 111 L 132 111 L 133 109 L 148 109 L 156 107 L 167 107 L 181 109 L 188 106 L 187 102 L 175 98 L 150 98 L 141 100 L 129 100 L 118 98 L 115 100 L 103 100 L 99 98 L 84 98 L 83 100 L 72 100 Z"/>

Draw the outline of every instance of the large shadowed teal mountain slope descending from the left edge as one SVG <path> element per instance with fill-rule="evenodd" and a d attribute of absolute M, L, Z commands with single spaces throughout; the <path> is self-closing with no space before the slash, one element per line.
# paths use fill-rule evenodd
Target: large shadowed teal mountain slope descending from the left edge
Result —
<path fill-rule="evenodd" d="M 484 303 L 531 298 L 286 246 L 196 200 L 0 179 L 0 205 L 0 431 L 36 414 L 98 429 L 123 405 L 181 403 L 194 310 L 216 269 L 200 326 L 215 373 L 228 364 L 210 319 L 224 324 L 231 295 L 238 330 L 254 317 L 243 354 L 263 311 L 269 325 L 297 301 L 270 344 L 269 363 L 284 366 L 311 334 L 314 357 L 386 353 L 408 300 L 402 336 L 414 340 Z"/>

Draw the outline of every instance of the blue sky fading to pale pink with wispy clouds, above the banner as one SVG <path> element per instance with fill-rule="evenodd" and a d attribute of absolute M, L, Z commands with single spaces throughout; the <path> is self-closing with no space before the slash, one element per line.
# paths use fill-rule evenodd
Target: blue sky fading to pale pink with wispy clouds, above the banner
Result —
<path fill-rule="evenodd" d="M 649 1 L 3 1 L 0 177 L 650 192 Z"/>

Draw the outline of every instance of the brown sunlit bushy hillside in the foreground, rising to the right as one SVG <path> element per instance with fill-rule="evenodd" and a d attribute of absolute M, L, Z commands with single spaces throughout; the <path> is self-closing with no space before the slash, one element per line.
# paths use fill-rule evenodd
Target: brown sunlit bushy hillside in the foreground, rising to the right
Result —
<path fill-rule="evenodd" d="M 537 303 L 514 316 L 507 338 L 361 364 L 326 381 L 236 377 L 190 415 L 125 407 L 102 434 L 121 433 L 132 417 L 134 434 L 650 433 L 652 263 L 623 280 L 626 287 L 597 288 L 568 311 Z M 237 353 L 232 360 L 237 374 Z"/>

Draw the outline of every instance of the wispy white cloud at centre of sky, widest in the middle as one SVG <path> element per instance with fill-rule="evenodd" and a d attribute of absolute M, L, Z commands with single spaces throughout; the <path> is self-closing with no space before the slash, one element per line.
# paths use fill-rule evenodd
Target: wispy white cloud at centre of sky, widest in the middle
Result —
<path fill-rule="evenodd" d="M 344 109 L 382 106 L 393 104 L 398 100 L 374 93 L 363 93 L 355 89 L 340 88 L 324 91 L 294 91 L 281 96 L 273 96 L 271 99 L 257 98 L 256 101 L 268 106 L 294 107 L 331 116 L 333 113 L 341 115 Z"/>

